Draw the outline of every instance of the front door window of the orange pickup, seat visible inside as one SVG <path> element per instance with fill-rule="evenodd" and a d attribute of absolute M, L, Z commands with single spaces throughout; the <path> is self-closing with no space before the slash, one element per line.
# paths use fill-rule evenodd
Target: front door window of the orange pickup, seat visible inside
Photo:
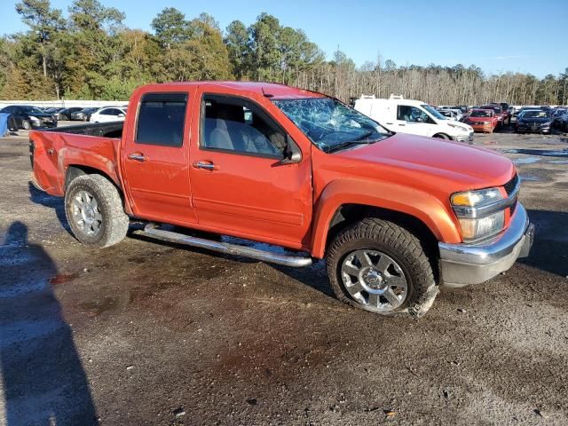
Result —
<path fill-rule="evenodd" d="M 282 158 L 284 130 L 255 103 L 229 96 L 201 100 L 201 148 Z"/>

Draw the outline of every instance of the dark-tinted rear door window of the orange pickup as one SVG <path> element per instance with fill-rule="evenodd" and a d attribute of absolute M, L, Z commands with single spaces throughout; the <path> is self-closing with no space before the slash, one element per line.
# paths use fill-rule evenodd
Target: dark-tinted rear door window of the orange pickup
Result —
<path fill-rule="evenodd" d="M 187 93 L 144 95 L 138 109 L 136 143 L 182 146 L 186 106 Z"/>

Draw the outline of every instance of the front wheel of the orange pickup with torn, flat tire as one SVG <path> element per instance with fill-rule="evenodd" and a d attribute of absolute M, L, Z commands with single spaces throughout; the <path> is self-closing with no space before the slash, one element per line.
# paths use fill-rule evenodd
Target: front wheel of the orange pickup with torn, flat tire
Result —
<path fill-rule="evenodd" d="M 421 317 L 438 295 L 420 241 L 374 217 L 335 237 L 327 250 L 327 275 L 339 300 L 382 315 Z"/>

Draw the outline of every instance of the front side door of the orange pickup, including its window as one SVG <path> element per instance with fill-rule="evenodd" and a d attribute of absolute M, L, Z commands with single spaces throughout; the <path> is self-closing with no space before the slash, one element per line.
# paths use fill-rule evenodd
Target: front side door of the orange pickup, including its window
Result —
<path fill-rule="evenodd" d="M 210 87 L 193 115 L 193 206 L 200 225 L 218 233 L 301 248 L 312 221 L 310 152 L 281 163 L 288 133 L 264 108 Z"/>

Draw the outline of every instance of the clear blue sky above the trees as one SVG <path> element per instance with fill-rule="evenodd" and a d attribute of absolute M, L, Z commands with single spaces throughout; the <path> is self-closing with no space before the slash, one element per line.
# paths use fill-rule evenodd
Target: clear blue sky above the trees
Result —
<path fill-rule="evenodd" d="M 360 66 L 391 59 L 400 65 L 474 64 L 487 74 L 512 71 L 538 77 L 568 67 L 568 0 L 99 0 L 126 13 L 129 28 L 151 31 L 164 7 L 193 19 L 208 12 L 221 28 L 249 25 L 261 12 L 304 29 L 330 59 L 338 48 Z M 0 0 L 0 34 L 24 31 L 14 0 Z M 51 0 L 67 14 L 71 0 Z"/>

